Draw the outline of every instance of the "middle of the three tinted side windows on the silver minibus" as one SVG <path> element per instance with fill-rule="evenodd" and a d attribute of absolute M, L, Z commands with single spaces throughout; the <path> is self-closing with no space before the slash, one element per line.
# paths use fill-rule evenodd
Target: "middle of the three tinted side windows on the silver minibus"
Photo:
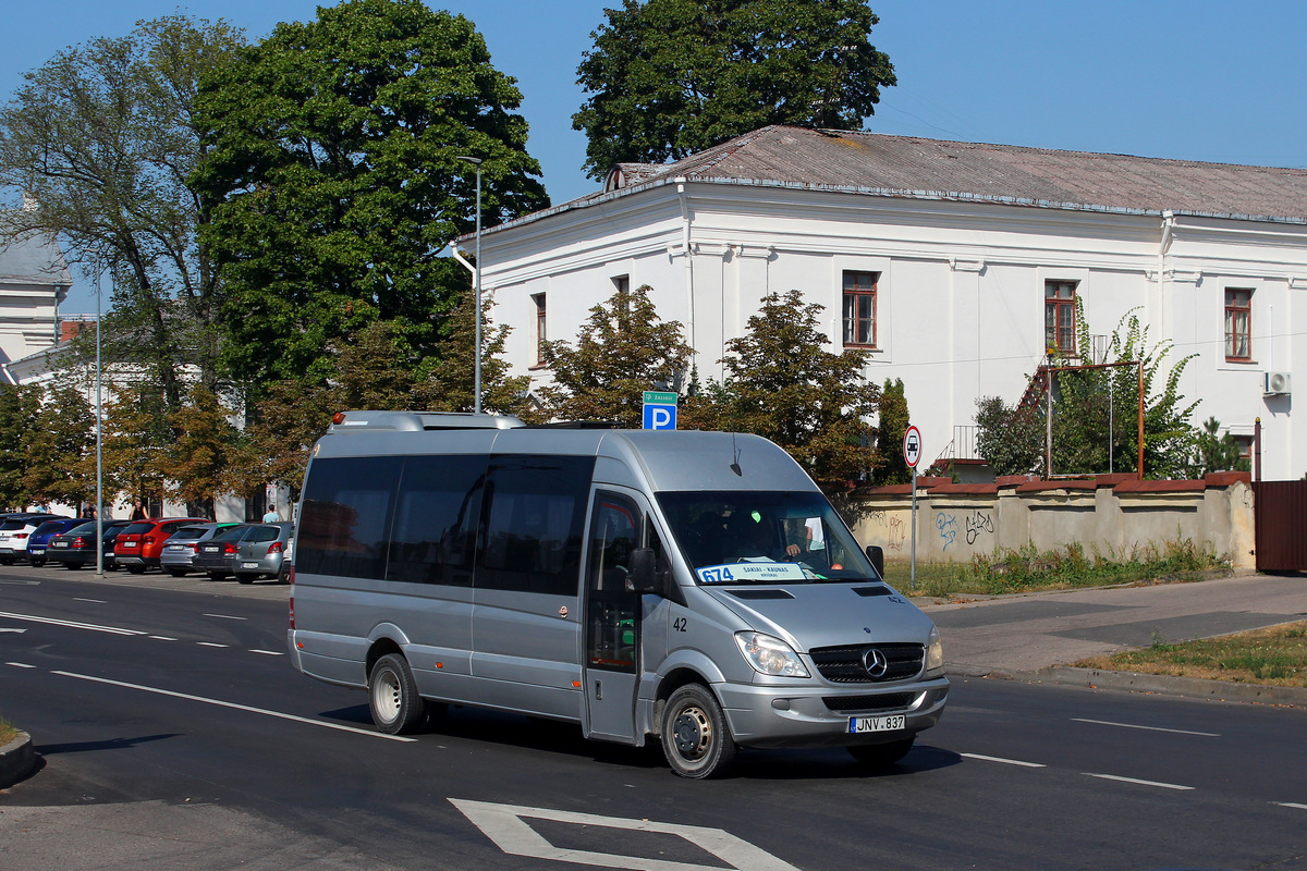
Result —
<path fill-rule="evenodd" d="M 488 461 L 485 456 L 404 461 L 387 580 L 472 585 Z"/>

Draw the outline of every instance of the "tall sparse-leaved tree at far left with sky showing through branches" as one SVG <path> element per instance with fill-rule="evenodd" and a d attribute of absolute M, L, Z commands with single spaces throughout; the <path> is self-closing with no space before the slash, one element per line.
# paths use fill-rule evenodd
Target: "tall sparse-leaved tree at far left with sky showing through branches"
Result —
<path fill-rule="evenodd" d="M 188 185 L 203 150 L 192 111 L 200 77 L 240 43 L 222 21 L 142 22 L 55 55 L 0 110 L 0 183 L 25 193 L 3 235 L 58 235 L 71 262 L 107 269 L 105 359 L 135 366 L 169 407 L 186 366 L 207 385 L 217 377 L 218 276 Z"/>

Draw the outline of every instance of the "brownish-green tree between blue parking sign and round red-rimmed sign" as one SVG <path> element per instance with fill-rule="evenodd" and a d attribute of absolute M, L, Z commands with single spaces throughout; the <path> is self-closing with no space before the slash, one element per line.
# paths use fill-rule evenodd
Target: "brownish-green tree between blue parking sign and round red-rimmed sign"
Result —
<path fill-rule="evenodd" d="M 714 428 L 775 441 L 813 481 L 840 491 L 880 465 L 867 419 L 881 394 L 863 375 L 867 351 L 822 347 L 830 345 L 817 329 L 823 309 L 804 303 L 797 290 L 763 296 L 748 332 L 727 342 L 725 383 L 710 389 L 710 407 L 695 413 Z"/>

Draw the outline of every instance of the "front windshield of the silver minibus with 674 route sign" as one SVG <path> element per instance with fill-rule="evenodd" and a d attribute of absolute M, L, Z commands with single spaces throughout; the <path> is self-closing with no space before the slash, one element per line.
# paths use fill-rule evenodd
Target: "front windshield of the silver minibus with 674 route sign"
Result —
<path fill-rule="evenodd" d="M 881 580 L 821 494 L 686 491 L 657 500 L 699 584 Z"/>

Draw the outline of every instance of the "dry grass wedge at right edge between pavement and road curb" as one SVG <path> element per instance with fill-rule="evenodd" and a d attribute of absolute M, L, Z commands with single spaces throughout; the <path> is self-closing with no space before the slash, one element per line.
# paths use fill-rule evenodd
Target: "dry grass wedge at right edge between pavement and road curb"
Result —
<path fill-rule="evenodd" d="M 1273 687 L 1307 687 L 1307 620 L 1201 641 L 1167 641 L 1154 636 L 1148 648 L 1093 657 L 1076 665 Z"/>

